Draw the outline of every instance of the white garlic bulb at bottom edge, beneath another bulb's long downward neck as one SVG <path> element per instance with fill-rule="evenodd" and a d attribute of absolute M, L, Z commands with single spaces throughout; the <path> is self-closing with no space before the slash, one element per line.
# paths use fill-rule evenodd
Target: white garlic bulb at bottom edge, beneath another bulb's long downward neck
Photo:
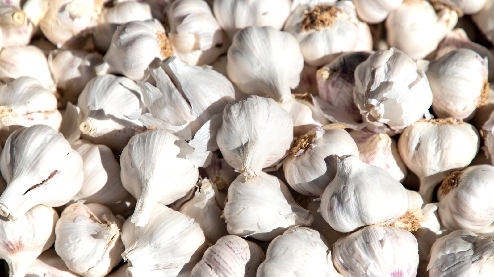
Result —
<path fill-rule="evenodd" d="M 127 276 L 177 276 L 194 265 L 206 250 L 206 240 L 199 224 L 178 211 L 158 204 L 149 224 L 136 227 L 130 217 L 122 227 L 128 261 Z M 190 273 L 189 273 L 190 274 Z"/>

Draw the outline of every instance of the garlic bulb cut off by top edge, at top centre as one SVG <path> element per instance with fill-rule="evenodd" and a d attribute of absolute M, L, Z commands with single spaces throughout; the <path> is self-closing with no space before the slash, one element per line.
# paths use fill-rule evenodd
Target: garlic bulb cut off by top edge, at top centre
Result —
<path fill-rule="evenodd" d="M 289 0 L 215 0 L 213 11 L 221 28 L 232 38 L 248 26 L 281 30 L 290 14 L 290 5 Z"/>

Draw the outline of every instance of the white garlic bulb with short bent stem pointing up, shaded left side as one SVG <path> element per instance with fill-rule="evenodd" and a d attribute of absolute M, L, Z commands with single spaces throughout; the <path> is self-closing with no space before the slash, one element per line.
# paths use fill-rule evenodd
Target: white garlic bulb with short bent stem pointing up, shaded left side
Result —
<path fill-rule="evenodd" d="M 321 195 L 321 214 L 331 228 L 347 233 L 407 212 L 407 192 L 387 171 L 353 155 L 337 157 L 336 164 L 336 175 Z"/>

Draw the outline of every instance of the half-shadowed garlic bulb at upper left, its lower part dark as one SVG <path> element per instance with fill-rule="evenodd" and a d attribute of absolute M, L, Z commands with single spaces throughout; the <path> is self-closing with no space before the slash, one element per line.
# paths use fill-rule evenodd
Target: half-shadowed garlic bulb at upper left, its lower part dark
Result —
<path fill-rule="evenodd" d="M 52 51 L 48 55 L 48 66 L 57 87 L 61 107 L 65 107 L 67 102 L 77 104 L 85 85 L 96 76 L 94 67 L 102 62 L 102 58 L 96 52 L 72 49 Z"/>

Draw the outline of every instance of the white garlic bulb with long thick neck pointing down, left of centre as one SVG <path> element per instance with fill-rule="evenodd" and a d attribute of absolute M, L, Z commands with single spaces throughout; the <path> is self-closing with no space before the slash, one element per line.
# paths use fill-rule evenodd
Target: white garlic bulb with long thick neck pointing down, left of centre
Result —
<path fill-rule="evenodd" d="M 137 199 L 131 222 L 145 226 L 157 203 L 171 204 L 197 182 L 199 171 L 185 156 L 194 148 L 165 130 L 135 135 L 120 157 L 125 189 Z"/>

